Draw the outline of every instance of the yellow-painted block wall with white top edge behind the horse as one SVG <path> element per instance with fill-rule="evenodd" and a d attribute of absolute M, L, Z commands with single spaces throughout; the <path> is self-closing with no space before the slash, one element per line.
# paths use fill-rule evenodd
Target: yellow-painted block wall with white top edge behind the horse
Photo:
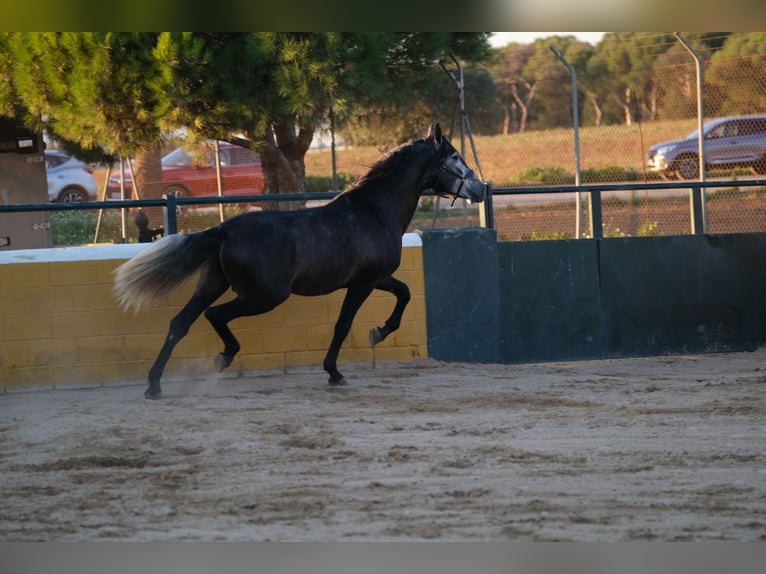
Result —
<path fill-rule="evenodd" d="M 375 360 L 428 356 L 423 255 L 419 237 L 405 236 L 395 276 L 412 300 L 401 328 L 375 348 Z M 194 280 L 166 304 L 125 313 L 112 294 L 113 271 L 144 245 L 103 245 L 8 251 L 0 254 L 0 385 L 4 390 L 144 380 L 170 319 L 191 296 Z M 330 344 L 345 290 L 322 297 L 293 296 L 277 309 L 232 322 L 242 350 L 230 370 L 316 365 Z M 231 297 L 224 295 L 221 301 Z M 357 314 L 338 359 L 371 361 L 368 333 L 382 325 L 394 297 L 374 292 Z M 165 377 L 213 374 L 222 343 L 200 317 L 176 347 Z"/>

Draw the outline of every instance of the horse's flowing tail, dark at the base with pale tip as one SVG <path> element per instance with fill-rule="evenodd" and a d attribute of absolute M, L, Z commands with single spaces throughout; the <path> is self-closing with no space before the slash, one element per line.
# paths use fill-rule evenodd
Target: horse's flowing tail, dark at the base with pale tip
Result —
<path fill-rule="evenodd" d="M 120 265 L 114 272 L 114 294 L 125 310 L 138 312 L 172 293 L 197 271 L 223 241 L 219 228 L 163 237 Z"/>

